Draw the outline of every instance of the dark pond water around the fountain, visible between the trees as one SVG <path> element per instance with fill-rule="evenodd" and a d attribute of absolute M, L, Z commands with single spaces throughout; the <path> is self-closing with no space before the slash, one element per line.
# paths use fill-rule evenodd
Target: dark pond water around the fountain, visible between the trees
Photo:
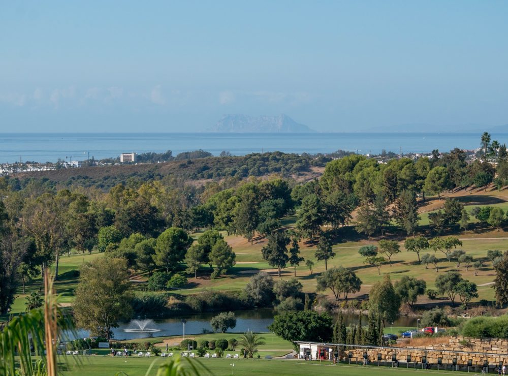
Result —
<path fill-rule="evenodd" d="M 206 314 L 182 316 L 178 318 L 167 318 L 162 320 L 153 320 L 153 324 L 149 324 L 147 329 L 157 329 L 159 331 L 152 333 L 131 333 L 125 332 L 124 329 L 135 329 L 138 328 L 133 323 L 120 324 L 118 328 L 113 329 L 115 339 L 134 339 L 134 338 L 151 338 L 161 337 L 170 335 L 182 335 L 183 325 L 182 319 L 186 320 L 185 323 L 185 334 L 201 334 L 203 329 L 212 331 L 210 326 L 210 320 L 216 316 L 217 312 L 210 312 Z M 268 332 L 268 325 L 273 323 L 274 311 L 271 309 L 255 309 L 249 311 L 235 311 L 236 316 L 236 327 L 232 329 L 232 332 L 243 333 L 248 330 L 253 332 Z M 344 321 L 346 325 L 358 324 L 358 315 L 344 315 Z M 367 325 L 367 317 L 363 318 L 362 324 Z M 394 323 L 393 326 L 414 326 L 416 327 L 417 322 L 412 317 L 400 317 Z M 387 325 L 387 329 L 391 324 Z M 396 334 L 396 333 L 394 333 Z M 79 337 L 87 337 L 88 332 L 84 330 L 78 331 Z"/>

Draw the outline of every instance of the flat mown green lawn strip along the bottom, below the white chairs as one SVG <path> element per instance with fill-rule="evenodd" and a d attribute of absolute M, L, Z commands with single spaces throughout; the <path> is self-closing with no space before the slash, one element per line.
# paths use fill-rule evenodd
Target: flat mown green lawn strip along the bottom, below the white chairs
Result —
<path fill-rule="evenodd" d="M 156 367 L 167 361 L 164 358 L 111 358 L 108 356 L 90 356 L 82 359 L 81 364 L 76 364 L 72 359 L 60 364 L 59 370 L 64 375 L 90 375 L 94 376 L 112 376 L 122 372 L 129 376 L 145 375 L 150 365 L 153 368 L 149 374 L 156 373 Z M 300 360 L 283 359 L 191 359 L 200 369 L 200 374 L 216 376 L 221 375 L 336 375 L 343 374 L 348 376 L 371 376 L 371 375 L 390 375 L 390 374 L 414 374 L 415 369 L 406 369 L 404 365 L 400 368 L 380 366 L 363 367 L 361 365 L 341 363 L 331 365 L 328 361 L 322 363 L 318 361 L 304 362 Z M 199 363 L 198 363 L 199 362 Z M 198 365 L 199 364 L 199 365 Z M 203 367 L 206 366 L 206 369 Z M 189 367 L 188 365 L 186 368 Z M 466 370 L 467 371 L 467 370 Z M 430 374 L 457 374 L 450 370 L 424 370 L 419 368 L 418 373 Z M 477 372 L 473 372 L 477 373 Z"/>

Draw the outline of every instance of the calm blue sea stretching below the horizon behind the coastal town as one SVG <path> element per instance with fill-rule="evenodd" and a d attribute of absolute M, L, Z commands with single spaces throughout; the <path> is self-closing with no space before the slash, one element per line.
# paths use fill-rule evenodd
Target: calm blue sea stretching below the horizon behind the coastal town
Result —
<path fill-rule="evenodd" d="M 283 151 L 327 153 L 337 149 L 358 153 L 449 151 L 454 147 L 480 147 L 476 133 L 4 133 L 0 134 L 0 163 L 56 162 L 58 158 L 86 160 L 110 158 L 122 152 L 143 153 L 203 149 L 218 155 Z M 492 134 L 506 142 L 508 134 Z"/>

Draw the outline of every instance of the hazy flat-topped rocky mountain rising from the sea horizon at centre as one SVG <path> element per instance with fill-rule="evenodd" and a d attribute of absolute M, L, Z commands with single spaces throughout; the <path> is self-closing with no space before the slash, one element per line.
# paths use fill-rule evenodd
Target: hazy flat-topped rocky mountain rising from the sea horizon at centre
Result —
<path fill-rule="evenodd" d="M 224 115 L 210 132 L 230 133 L 290 133 L 315 132 L 303 124 L 297 123 L 287 115 L 247 116 L 242 114 Z"/>

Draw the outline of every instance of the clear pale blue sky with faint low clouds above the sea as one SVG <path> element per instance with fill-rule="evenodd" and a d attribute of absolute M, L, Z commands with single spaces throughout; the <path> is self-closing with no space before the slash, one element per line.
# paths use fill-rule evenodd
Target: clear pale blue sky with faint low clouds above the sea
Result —
<path fill-rule="evenodd" d="M 506 19 L 503 1 L 2 1 L 0 131 L 506 124 Z"/>

